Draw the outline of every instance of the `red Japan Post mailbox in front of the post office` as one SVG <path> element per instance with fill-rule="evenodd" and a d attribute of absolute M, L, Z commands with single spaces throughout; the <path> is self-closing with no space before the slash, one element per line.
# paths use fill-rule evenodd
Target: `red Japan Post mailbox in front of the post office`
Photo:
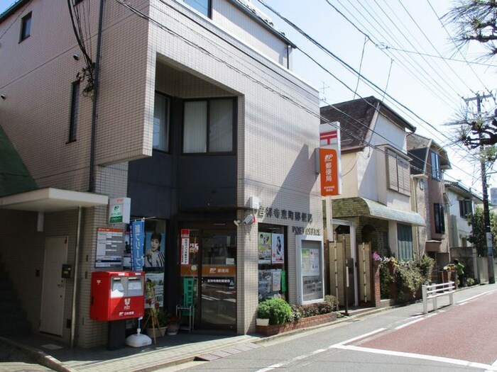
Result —
<path fill-rule="evenodd" d="M 145 273 L 134 271 L 92 272 L 92 320 L 123 320 L 143 317 Z"/>

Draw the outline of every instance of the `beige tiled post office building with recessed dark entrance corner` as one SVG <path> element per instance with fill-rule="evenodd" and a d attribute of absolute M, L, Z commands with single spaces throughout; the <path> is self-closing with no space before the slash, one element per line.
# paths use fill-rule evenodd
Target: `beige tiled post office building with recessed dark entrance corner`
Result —
<path fill-rule="evenodd" d="M 246 334 L 260 298 L 299 301 L 297 247 L 322 246 L 319 96 L 265 14 L 245 0 L 18 0 L 0 35 L 0 143 L 17 159 L 2 168 L 0 254 L 33 332 L 108 341 L 89 317 L 92 273 L 129 264 L 109 198 L 131 199 L 135 269 L 166 310 L 192 300 L 195 329 Z"/>

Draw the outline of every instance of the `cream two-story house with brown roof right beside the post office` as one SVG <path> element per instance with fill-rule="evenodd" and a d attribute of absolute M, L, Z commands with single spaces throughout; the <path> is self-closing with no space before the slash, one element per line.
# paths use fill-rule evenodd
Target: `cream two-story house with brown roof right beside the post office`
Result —
<path fill-rule="evenodd" d="M 413 227 L 425 220 L 411 210 L 405 142 L 406 131 L 413 133 L 415 127 L 373 96 L 322 107 L 321 115 L 340 123 L 342 195 L 332 197 L 332 215 L 338 241 L 343 236 L 349 247 L 345 256 L 353 259 L 357 303 L 369 283 L 358 274 L 357 262 L 364 261 L 367 270 L 371 252 L 398 259 L 416 253 Z M 357 253 L 363 242 L 370 246 L 367 254 Z"/>

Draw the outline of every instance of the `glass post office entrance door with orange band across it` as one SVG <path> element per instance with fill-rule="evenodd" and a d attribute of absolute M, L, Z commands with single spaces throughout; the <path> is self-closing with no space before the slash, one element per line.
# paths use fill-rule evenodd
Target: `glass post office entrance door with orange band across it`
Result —
<path fill-rule="evenodd" d="M 194 279 L 195 328 L 235 331 L 236 231 L 190 229 L 189 234 L 188 264 L 180 273 L 182 284 Z M 185 288 L 182 292 L 187 298 Z"/>

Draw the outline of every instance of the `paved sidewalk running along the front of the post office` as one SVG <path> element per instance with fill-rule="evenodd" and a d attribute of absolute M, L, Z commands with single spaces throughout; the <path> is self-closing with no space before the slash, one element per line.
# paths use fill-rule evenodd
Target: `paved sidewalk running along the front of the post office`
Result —
<path fill-rule="evenodd" d="M 474 286 L 457 291 L 457 301 L 471 298 L 484 291 L 497 288 L 497 285 Z M 413 305 L 413 310 L 422 309 L 422 303 Z M 326 327 L 339 322 L 350 321 L 351 318 L 371 315 L 391 309 L 368 308 L 349 310 L 349 317 L 317 327 Z M 307 328 L 309 329 L 309 328 Z M 295 332 L 305 332 L 297 329 Z M 295 332 L 263 337 L 258 334 L 233 335 L 214 334 L 212 332 L 180 332 L 176 336 L 158 337 L 157 344 L 134 348 L 125 346 L 122 349 L 107 350 L 106 346 L 94 349 L 70 348 L 56 338 L 40 334 L 28 337 L 6 339 L 0 337 L 0 363 L 2 372 L 21 371 L 54 371 L 60 372 L 144 372 L 154 371 L 187 361 L 214 360 L 260 347 L 260 342 L 274 337 L 285 337 Z M 6 358 L 9 356 L 9 358 Z"/>

